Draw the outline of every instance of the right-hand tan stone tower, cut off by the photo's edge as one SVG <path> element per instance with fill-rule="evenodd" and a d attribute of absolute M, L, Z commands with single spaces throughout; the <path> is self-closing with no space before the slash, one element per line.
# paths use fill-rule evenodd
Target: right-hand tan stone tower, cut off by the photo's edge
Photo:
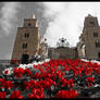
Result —
<path fill-rule="evenodd" d="M 100 26 L 97 17 L 85 17 L 83 33 L 77 43 L 78 58 L 100 60 Z"/>

